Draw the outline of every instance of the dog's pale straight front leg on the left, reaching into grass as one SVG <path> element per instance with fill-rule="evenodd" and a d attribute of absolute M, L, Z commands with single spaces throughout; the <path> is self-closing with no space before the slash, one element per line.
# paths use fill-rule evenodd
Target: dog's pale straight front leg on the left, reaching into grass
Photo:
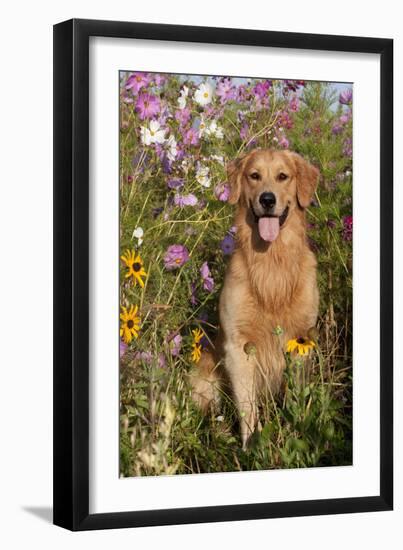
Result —
<path fill-rule="evenodd" d="M 243 347 L 228 345 L 226 349 L 226 370 L 238 409 L 242 448 L 245 450 L 256 425 L 256 368 Z"/>

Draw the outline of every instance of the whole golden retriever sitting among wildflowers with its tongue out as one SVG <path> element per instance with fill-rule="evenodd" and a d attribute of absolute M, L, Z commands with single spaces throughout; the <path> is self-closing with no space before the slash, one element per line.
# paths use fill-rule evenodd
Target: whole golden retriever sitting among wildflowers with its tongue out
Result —
<path fill-rule="evenodd" d="M 257 149 L 228 166 L 236 247 L 220 296 L 217 342 L 203 352 L 190 381 L 204 411 L 217 402 L 220 384 L 229 385 L 244 448 L 259 397 L 281 387 L 287 341 L 306 337 L 316 324 L 316 259 L 307 244 L 305 209 L 318 175 L 290 151 Z"/>

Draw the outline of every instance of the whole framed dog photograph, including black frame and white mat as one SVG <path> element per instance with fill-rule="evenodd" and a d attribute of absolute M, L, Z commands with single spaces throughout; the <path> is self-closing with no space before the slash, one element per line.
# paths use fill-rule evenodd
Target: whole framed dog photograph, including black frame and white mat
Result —
<path fill-rule="evenodd" d="M 54 27 L 54 523 L 391 510 L 393 41 Z"/>

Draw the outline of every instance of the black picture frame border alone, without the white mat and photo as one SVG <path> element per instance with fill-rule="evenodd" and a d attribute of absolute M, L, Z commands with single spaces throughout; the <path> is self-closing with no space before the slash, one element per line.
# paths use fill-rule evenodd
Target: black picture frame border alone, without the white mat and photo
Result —
<path fill-rule="evenodd" d="M 380 54 L 380 491 L 366 497 L 89 513 L 89 38 Z M 54 26 L 54 523 L 71 530 L 393 507 L 393 40 L 73 19 Z M 63 338 L 58 335 L 62 334 Z"/>

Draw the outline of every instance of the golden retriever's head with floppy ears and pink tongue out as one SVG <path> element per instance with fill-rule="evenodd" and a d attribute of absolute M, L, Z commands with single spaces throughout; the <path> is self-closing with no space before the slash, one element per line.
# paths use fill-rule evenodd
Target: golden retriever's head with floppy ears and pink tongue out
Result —
<path fill-rule="evenodd" d="M 273 242 L 296 208 L 309 206 L 318 170 L 290 151 L 257 149 L 228 167 L 229 202 L 240 203 L 252 215 L 259 235 Z"/>

